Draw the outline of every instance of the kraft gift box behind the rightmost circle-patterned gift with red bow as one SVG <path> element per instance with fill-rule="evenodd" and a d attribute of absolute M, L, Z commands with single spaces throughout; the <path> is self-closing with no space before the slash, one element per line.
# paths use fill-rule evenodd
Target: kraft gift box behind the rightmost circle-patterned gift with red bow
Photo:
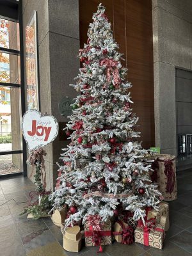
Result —
<path fill-rule="evenodd" d="M 169 221 L 169 205 L 166 202 L 161 202 L 159 204 L 159 210 L 152 209 L 147 211 L 147 220 L 154 218 L 156 219 L 156 223 L 160 222 L 161 216 L 166 217 L 166 223 L 164 223 L 164 231 L 167 231 L 170 227 Z"/>

